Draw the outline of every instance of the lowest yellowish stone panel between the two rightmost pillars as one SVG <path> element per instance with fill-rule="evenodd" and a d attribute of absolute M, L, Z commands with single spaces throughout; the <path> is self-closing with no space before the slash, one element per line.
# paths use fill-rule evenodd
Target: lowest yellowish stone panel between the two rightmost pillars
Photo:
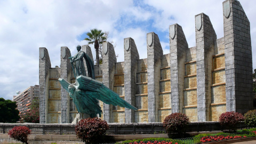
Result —
<path fill-rule="evenodd" d="M 219 121 L 222 113 L 226 113 L 226 105 L 215 105 L 210 107 L 210 121 Z"/>

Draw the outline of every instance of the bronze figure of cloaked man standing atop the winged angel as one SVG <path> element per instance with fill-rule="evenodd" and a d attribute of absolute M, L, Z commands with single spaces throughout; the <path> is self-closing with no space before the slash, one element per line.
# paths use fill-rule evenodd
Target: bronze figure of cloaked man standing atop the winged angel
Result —
<path fill-rule="evenodd" d="M 80 45 L 77 45 L 76 49 L 77 49 L 77 53 L 70 60 L 71 65 L 73 65 L 73 68 L 75 71 L 75 77 L 78 77 L 79 75 L 86 76 L 84 60 L 83 60 L 83 58 L 84 58 L 85 62 L 86 62 L 87 69 L 88 69 L 88 75 L 89 75 L 89 77 L 94 79 L 95 76 L 94 76 L 93 61 L 85 52 L 81 51 Z"/>

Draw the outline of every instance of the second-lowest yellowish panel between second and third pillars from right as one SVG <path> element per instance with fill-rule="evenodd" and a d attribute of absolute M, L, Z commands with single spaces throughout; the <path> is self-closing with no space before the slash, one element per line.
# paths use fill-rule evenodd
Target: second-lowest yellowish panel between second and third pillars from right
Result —
<path fill-rule="evenodd" d="M 197 93 L 196 90 L 184 91 L 184 106 L 197 105 Z"/>

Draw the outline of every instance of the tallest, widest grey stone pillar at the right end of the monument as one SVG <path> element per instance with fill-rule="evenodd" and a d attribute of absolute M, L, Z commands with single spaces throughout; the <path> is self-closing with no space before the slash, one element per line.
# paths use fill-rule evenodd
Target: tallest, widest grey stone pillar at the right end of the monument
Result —
<path fill-rule="evenodd" d="M 241 4 L 223 2 L 226 110 L 246 113 L 253 108 L 250 22 Z"/>

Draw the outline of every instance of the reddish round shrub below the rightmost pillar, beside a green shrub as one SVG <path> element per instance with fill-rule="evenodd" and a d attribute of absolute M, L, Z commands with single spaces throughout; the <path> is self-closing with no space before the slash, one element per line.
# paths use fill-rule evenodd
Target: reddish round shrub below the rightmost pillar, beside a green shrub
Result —
<path fill-rule="evenodd" d="M 227 126 L 229 131 L 236 131 L 236 124 L 240 121 L 244 121 L 244 116 L 241 113 L 235 113 L 235 111 L 222 113 L 219 117 L 220 124 Z"/>

